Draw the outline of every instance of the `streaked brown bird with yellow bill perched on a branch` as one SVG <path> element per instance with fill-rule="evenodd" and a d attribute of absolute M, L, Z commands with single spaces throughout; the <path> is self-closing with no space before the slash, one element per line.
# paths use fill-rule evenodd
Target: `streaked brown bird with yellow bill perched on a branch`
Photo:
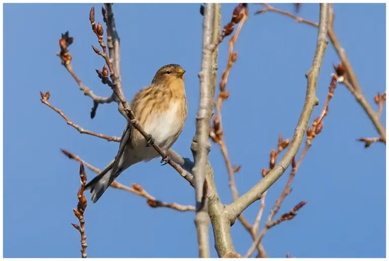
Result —
<path fill-rule="evenodd" d="M 151 84 L 139 91 L 131 102 L 131 109 L 145 132 L 155 144 L 168 150 L 182 132 L 187 102 L 184 90 L 185 70 L 178 64 L 168 64 L 155 73 Z M 91 190 L 92 201 L 101 197 L 111 183 L 129 166 L 159 156 L 128 121 L 116 157 L 86 186 Z"/>

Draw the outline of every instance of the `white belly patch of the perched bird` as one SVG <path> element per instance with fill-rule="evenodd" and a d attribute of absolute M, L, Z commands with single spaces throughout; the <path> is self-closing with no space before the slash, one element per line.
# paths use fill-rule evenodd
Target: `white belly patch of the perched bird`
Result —
<path fill-rule="evenodd" d="M 174 136 L 180 128 L 181 120 L 178 118 L 179 104 L 172 103 L 168 110 L 148 116 L 144 130 L 146 133 L 154 137 L 158 145 L 162 145 L 162 149 L 168 149 L 172 146 Z"/>

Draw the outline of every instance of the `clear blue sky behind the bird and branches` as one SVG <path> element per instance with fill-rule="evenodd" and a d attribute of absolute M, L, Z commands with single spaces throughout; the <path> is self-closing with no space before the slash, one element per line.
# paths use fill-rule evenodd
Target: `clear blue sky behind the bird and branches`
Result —
<path fill-rule="evenodd" d="M 95 6 L 96 19 L 102 22 L 101 4 Z M 291 4 L 275 6 L 294 10 Z M 91 99 L 79 91 L 55 55 L 61 33 L 69 30 L 74 36 L 70 53 L 75 72 L 96 94 L 110 94 L 94 71 L 101 69 L 103 61 L 90 47 L 98 46 L 89 23 L 91 7 L 4 5 L 5 257 L 80 257 L 80 235 L 70 226 L 77 223 L 72 208 L 80 187 L 79 163 L 62 155 L 60 148 L 98 168 L 118 150 L 118 143 L 79 134 L 40 102 L 39 92 L 50 91 L 50 102 L 75 123 L 121 136 L 125 120 L 116 105 L 100 106 L 96 117 L 90 119 Z M 222 5 L 223 24 L 234 7 Z M 223 107 L 230 159 L 243 166 L 236 176 L 241 194 L 260 180 L 261 168 L 268 166 L 269 151 L 276 148 L 278 134 L 285 138 L 293 135 L 306 90 L 304 74 L 312 64 L 317 39 L 316 28 L 277 14 L 254 16 L 260 6 L 249 7 L 251 16 L 238 39 L 239 57 L 227 84 L 231 95 Z M 188 119 L 173 146 L 185 157 L 191 157 L 189 147 L 199 105 L 203 23 L 199 8 L 200 4 L 113 5 L 128 99 L 148 85 L 162 65 L 179 63 L 187 71 Z M 376 108 L 373 97 L 385 90 L 385 5 L 335 4 L 334 9 L 337 36 L 364 94 Z M 302 5 L 302 17 L 318 21 L 318 14 L 318 4 Z M 220 47 L 219 78 L 226 60 L 227 40 Z M 313 117 L 323 108 L 332 63 L 338 61 L 329 45 L 318 81 L 320 106 Z M 297 257 L 385 256 L 385 146 L 374 144 L 364 149 L 356 142 L 359 137 L 376 135 L 360 105 L 338 85 L 323 132 L 304 159 L 280 214 L 299 201 L 307 200 L 308 204 L 293 221 L 268 232 L 263 244 L 269 256 L 284 257 L 286 252 Z M 215 145 L 210 160 L 220 197 L 230 203 L 226 167 Z M 89 180 L 94 177 L 89 170 L 87 174 Z M 288 175 L 289 170 L 269 190 L 264 219 Z M 160 166 L 157 159 L 131 167 L 118 181 L 141 184 L 167 202 L 193 204 L 193 189 L 170 166 Z M 251 222 L 258 207 L 256 202 L 244 212 Z M 88 255 L 196 257 L 194 216 L 193 212 L 152 209 L 144 198 L 109 189 L 86 211 Z M 231 230 L 236 250 L 245 253 L 252 243 L 249 234 L 239 222 Z M 211 250 L 216 257 L 212 239 Z"/>

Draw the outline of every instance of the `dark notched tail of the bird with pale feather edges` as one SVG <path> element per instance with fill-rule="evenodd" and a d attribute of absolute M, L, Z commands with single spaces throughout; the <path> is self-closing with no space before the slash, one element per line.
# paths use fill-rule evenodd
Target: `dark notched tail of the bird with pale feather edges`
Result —
<path fill-rule="evenodd" d="M 111 183 L 122 172 L 121 168 L 118 168 L 115 173 L 112 173 L 112 166 L 114 160 L 112 160 L 93 180 L 85 185 L 85 190 L 91 190 L 92 202 L 96 203 L 97 200 L 103 195 Z"/>

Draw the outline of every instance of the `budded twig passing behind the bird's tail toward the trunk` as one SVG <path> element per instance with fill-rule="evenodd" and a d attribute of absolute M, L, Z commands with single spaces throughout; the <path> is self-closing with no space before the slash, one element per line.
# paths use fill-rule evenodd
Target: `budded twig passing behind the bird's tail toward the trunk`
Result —
<path fill-rule="evenodd" d="M 80 158 L 79 156 L 67 151 L 67 150 L 64 150 L 64 149 L 61 149 L 62 153 L 65 154 L 65 156 L 67 156 L 69 159 L 73 159 L 75 161 L 78 161 L 78 162 L 81 162 L 81 164 L 85 165 L 87 168 L 91 169 L 92 171 L 96 172 L 97 174 L 100 173 L 100 169 L 98 169 L 97 167 L 89 164 L 88 162 L 84 161 L 82 158 Z M 132 184 L 132 188 L 131 187 L 127 187 L 117 181 L 113 181 L 112 184 L 110 185 L 110 187 L 112 188 L 115 188 L 115 189 L 120 189 L 120 190 L 125 190 L 127 192 L 131 192 L 133 194 L 136 194 L 138 196 L 141 196 L 141 197 L 144 197 L 145 199 L 147 199 L 147 204 L 150 206 L 150 207 L 166 207 L 166 208 L 171 208 L 171 209 L 175 209 L 175 210 L 178 210 L 178 211 L 181 211 L 181 212 L 185 212 L 185 211 L 195 211 L 195 207 L 194 206 L 184 206 L 184 205 L 180 205 L 180 204 L 177 204 L 177 203 L 167 203 L 167 202 L 164 202 L 164 201 L 160 201 L 158 200 L 157 198 L 151 196 L 150 194 L 147 193 L 146 190 L 143 189 L 143 187 L 141 187 L 140 185 L 138 184 Z"/>

